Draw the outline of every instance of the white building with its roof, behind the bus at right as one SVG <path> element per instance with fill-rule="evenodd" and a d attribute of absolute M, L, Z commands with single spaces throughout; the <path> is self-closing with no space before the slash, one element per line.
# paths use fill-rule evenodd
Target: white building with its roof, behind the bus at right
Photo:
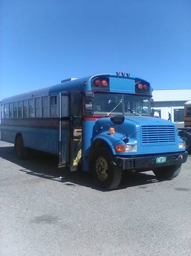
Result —
<path fill-rule="evenodd" d="M 160 118 L 168 120 L 171 114 L 172 122 L 184 122 L 184 103 L 191 100 L 191 89 L 154 90 L 152 92 L 154 109 Z"/>

